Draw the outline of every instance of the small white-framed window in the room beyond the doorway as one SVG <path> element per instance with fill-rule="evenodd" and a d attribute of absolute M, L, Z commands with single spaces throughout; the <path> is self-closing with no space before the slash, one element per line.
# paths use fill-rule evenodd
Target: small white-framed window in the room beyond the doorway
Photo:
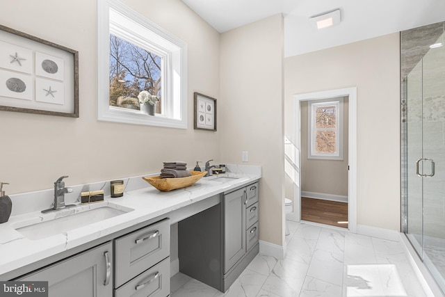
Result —
<path fill-rule="evenodd" d="M 343 160 L 343 98 L 309 101 L 308 159 Z"/>

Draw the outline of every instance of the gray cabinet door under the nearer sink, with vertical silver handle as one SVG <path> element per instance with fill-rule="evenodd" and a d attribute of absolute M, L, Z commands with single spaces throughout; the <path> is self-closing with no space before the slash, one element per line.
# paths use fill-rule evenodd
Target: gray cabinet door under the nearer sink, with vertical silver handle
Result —
<path fill-rule="evenodd" d="M 49 297 L 113 296 L 113 246 L 105 243 L 19 280 L 48 281 Z"/>

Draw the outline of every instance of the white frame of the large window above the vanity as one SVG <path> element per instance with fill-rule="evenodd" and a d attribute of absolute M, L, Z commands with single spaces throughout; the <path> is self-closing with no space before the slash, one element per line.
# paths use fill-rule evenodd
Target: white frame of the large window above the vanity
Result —
<path fill-rule="evenodd" d="M 116 0 L 97 1 L 97 119 L 187 129 L 187 45 Z M 110 34 L 161 56 L 162 114 L 110 106 Z"/>

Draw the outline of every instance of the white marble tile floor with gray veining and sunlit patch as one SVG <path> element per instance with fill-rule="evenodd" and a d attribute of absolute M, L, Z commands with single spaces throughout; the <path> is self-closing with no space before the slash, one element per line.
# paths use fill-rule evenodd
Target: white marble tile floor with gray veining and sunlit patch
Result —
<path fill-rule="evenodd" d="M 288 221 L 285 259 L 257 255 L 224 294 L 182 273 L 172 297 L 424 297 L 401 243 Z"/>

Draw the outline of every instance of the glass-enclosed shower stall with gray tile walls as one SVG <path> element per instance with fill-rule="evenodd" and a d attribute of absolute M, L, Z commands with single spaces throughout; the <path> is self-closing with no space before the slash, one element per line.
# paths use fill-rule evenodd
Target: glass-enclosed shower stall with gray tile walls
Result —
<path fill-rule="evenodd" d="M 445 22 L 401 32 L 402 231 L 445 292 Z"/>

